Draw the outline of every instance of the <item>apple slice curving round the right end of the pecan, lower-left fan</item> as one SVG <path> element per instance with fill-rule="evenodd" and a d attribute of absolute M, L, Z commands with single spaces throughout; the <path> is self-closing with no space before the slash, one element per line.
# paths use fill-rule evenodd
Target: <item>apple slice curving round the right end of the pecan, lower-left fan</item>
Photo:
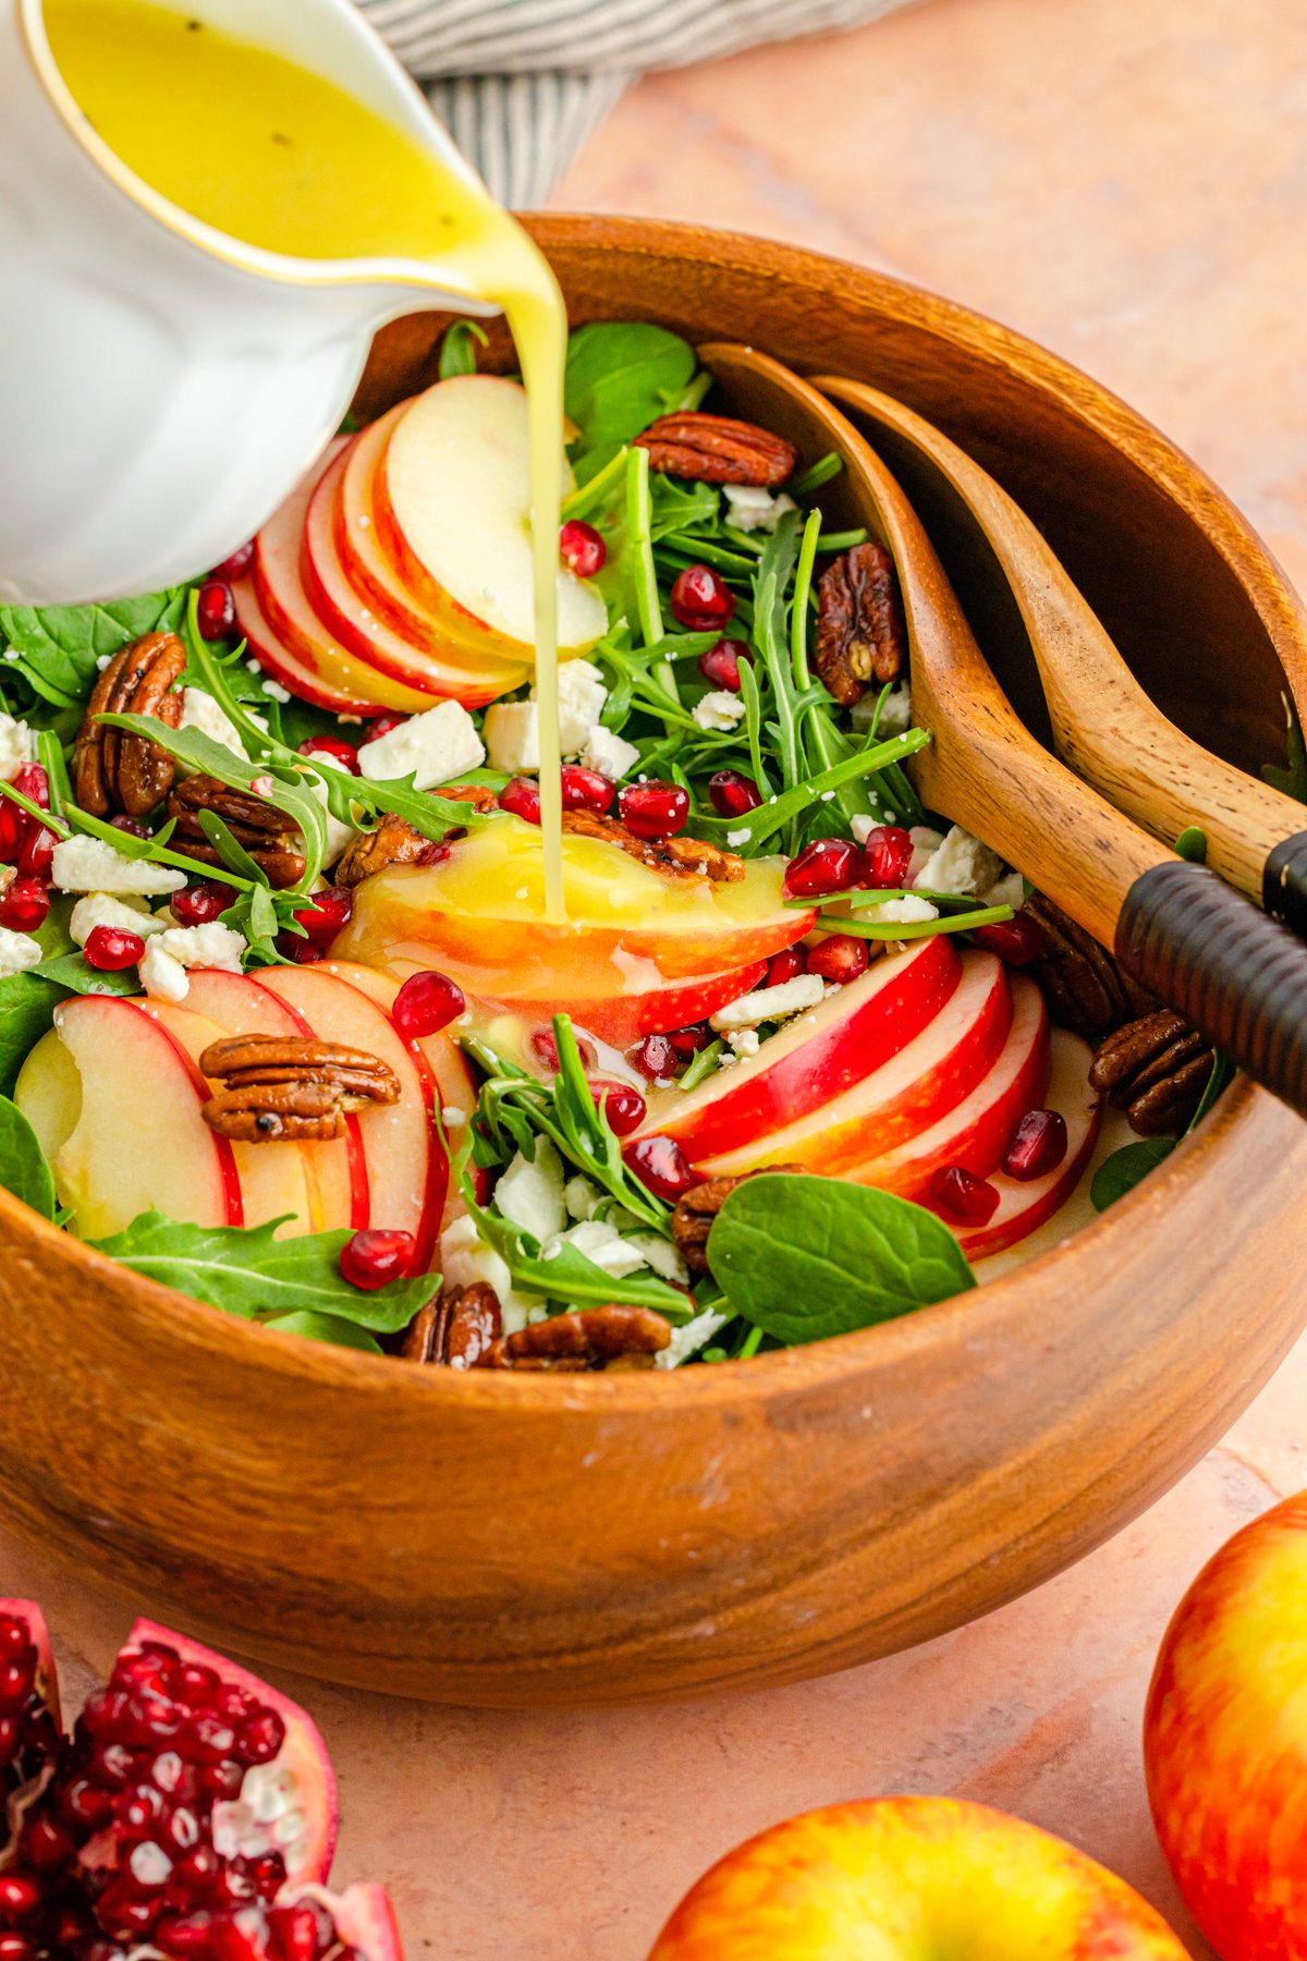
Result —
<path fill-rule="evenodd" d="M 429 1269 L 445 1204 L 449 1165 L 431 1128 L 431 1084 L 378 1000 L 317 967 L 268 967 L 261 984 L 304 1016 L 321 1041 L 345 1041 L 388 1063 L 400 1100 L 359 1112 L 368 1167 L 368 1226 L 411 1232 L 413 1273 Z"/>

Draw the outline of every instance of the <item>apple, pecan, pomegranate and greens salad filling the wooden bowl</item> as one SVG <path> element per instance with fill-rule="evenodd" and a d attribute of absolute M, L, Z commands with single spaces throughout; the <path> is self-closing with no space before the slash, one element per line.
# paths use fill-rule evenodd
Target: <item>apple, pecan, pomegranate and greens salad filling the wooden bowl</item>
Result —
<path fill-rule="evenodd" d="M 1129 1190 L 1225 1063 L 921 806 L 839 459 L 654 326 L 568 343 L 545 833 L 476 339 L 194 584 L 0 608 L 8 1190 L 263 1326 L 558 1373 L 866 1328 Z"/>

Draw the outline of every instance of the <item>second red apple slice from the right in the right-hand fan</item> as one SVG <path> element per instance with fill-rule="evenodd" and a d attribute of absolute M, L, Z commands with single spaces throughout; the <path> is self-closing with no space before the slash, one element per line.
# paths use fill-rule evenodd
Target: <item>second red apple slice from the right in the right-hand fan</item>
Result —
<path fill-rule="evenodd" d="M 1044 996 L 1021 973 L 1009 975 L 1009 986 L 1013 1014 L 1007 1041 L 970 1096 L 894 1151 L 868 1153 L 847 1177 L 917 1200 L 929 1192 L 935 1173 L 948 1165 L 962 1165 L 978 1179 L 990 1177 L 1007 1149 L 1017 1118 L 1042 1104 L 1048 1086 Z"/>

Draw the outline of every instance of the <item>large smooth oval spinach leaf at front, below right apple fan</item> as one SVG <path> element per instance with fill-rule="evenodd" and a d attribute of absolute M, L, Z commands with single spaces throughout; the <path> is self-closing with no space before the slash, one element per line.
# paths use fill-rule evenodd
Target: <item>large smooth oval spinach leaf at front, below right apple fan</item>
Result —
<path fill-rule="evenodd" d="M 709 1249 L 737 1314 L 792 1347 L 976 1284 L 962 1247 L 933 1212 L 843 1179 L 747 1179 L 717 1214 Z"/>

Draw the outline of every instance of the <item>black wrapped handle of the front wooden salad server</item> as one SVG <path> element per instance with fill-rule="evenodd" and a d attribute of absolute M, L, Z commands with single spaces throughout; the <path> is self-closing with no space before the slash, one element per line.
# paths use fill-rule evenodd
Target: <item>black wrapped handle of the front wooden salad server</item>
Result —
<path fill-rule="evenodd" d="M 1307 1116 L 1307 947 L 1203 865 L 1125 894 L 1117 959 L 1240 1069 Z"/>

